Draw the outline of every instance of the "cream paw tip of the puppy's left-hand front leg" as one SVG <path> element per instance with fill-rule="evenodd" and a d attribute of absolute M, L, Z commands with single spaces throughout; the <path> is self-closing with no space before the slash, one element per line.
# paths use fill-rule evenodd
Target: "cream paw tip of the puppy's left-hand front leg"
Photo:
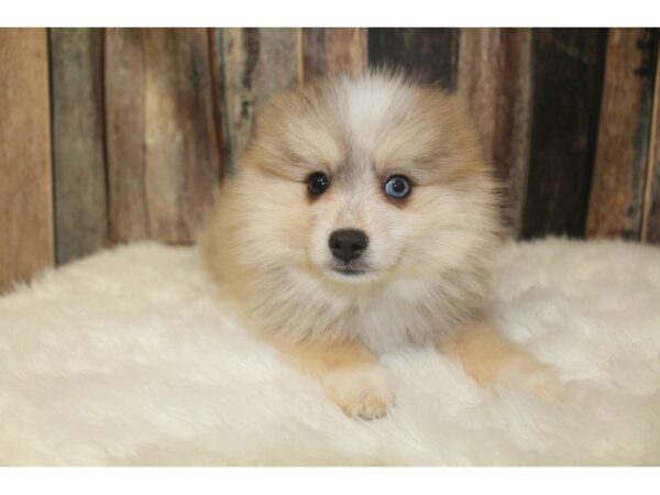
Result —
<path fill-rule="evenodd" d="M 321 382 L 330 398 L 350 417 L 381 418 L 394 402 L 389 377 L 382 366 L 331 370 Z"/>

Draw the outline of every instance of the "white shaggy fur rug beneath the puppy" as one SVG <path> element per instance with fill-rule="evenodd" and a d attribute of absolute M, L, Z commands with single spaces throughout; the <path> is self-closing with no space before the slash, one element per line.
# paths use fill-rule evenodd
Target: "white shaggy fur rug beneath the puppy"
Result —
<path fill-rule="evenodd" d="M 344 417 L 232 323 L 197 253 L 106 251 L 0 298 L 3 464 L 660 464 L 660 249 L 509 244 L 502 328 L 566 383 L 498 396 L 428 349 L 397 405 Z"/>

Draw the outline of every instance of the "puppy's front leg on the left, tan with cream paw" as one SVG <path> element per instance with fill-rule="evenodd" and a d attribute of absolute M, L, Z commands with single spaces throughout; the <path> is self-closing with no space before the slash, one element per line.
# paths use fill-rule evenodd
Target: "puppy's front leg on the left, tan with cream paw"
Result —
<path fill-rule="evenodd" d="M 348 416 L 380 418 L 394 400 L 387 371 L 360 342 L 277 346 L 304 371 L 318 377 L 326 393 Z"/>

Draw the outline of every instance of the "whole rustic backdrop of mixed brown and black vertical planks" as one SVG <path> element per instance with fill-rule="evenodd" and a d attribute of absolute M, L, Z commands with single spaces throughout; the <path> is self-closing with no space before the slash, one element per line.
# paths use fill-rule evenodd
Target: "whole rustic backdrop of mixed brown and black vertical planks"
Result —
<path fill-rule="evenodd" d="M 0 290 L 186 244 L 273 92 L 370 65 L 468 97 L 520 238 L 660 243 L 657 29 L 0 29 Z"/>

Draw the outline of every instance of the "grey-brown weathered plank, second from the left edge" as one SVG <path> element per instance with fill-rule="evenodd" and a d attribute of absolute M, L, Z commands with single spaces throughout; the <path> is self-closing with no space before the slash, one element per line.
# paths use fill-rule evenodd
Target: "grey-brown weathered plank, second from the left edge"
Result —
<path fill-rule="evenodd" d="M 106 244 L 102 30 L 52 29 L 55 255 L 58 264 Z"/>

